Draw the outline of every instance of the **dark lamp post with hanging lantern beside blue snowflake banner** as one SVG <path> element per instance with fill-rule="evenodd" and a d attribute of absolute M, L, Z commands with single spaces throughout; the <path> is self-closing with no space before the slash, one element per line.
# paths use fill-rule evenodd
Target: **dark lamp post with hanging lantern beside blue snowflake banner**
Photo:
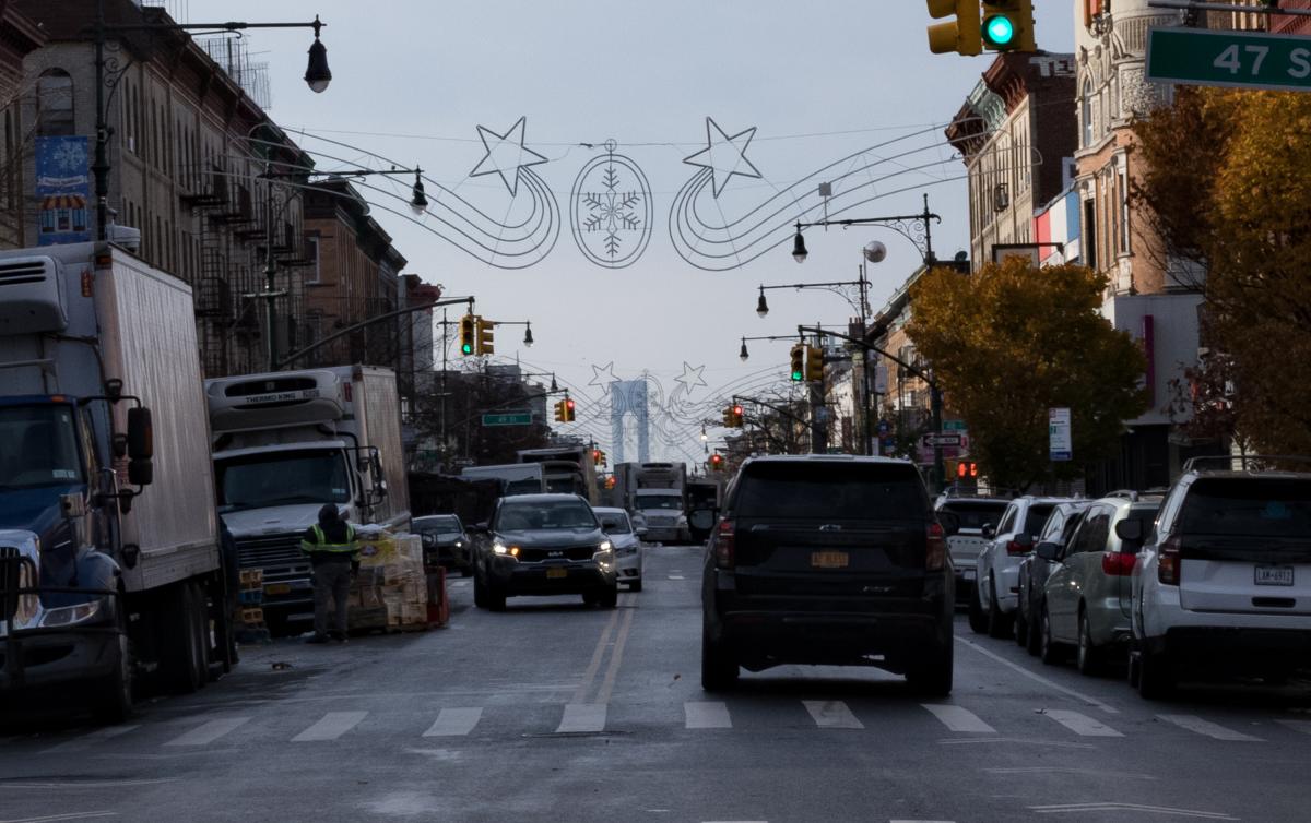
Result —
<path fill-rule="evenodd" d="M 319 39 L 320 30 L 328 24 L 315 16 L 313 22 L 170 22 L 170 24 L 106 24 L 105 0 L 96 0 L 96 22 L 90 26 L 96 45 L 96 157 L 90 170 L 96 178 L 96 239 L 106 240 L 106 227 L 109 223 L 109 136 L 110 128 L 106 113 L 105 72 L 109 62 L 105 59 L 105 42 L 109 34 L 126 34 L 130 31 L 243 31 L 246 29 L 313 29 L 315 41 L 309 46 L 309 63 L 305 67 L 305 84 L 315 93 L 321 93 L 332 81 L 332 71 L 328 68 L 328 48 Z M 117 67 L 117 59 L 114 60 Z M 118 79 L 125 69 L 118 69 L 117 75 L 109 80 L 109 86 L 117 86 Z"/>

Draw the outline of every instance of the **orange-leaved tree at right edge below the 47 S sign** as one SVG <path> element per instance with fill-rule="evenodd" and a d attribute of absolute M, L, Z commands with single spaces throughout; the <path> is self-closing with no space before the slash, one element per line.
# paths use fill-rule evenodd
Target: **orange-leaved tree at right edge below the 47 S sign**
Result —
<path fill-rule="evenodd" d="M 1231 376 L 1234 432 L 1311 451 L 1311 98 L 1185 89 L 1135 134 L 1150 170 L 1134 197 L 1172 253 L 1206 267 L 1202 342 Z M 1194 415 L 1215 410 L 1211 392 L 1196 397 Z"/>

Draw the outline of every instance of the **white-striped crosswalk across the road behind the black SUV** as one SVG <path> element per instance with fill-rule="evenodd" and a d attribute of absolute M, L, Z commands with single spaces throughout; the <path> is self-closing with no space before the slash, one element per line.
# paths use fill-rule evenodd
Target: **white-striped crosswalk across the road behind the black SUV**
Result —
<path fill-rule="evenodd" d="M 915 705 L 915 704 L 912 704 Z M 636 726 L 667 726 L 675 731 L 680 725 L 688 733 L 733 733 L 759 730 L 762 723 L 789 727 L 810 726 L 819 734 L 835 734 L 842 730 L 852 733 L 881 733 L 891 726 L 905 730 L 906 723 L 927 723 L 927 729 L 916 729 L 916 734 L 937 735 L 941 743 L 999 743 L 1041 738 L 1049 744 L 1072 746 L 1074 740 L 1101 739 L 1114 743 L 1117 739 L 1141 735 L 1148 730 L 1152 734 L 1196 735 L 1211 740 L 1234 744 L 1264 743 L 1276 735 L 1283 735 L 1285 742 L 1304 740 L 1311 735 L 1311 721 L 1270 718 L 1260 723 L 1261 734 L 1252 734 L 1248 727 L 1236 721 L 1228 725 L 1218 723 L 1192 714 L 1158 714 L 1148 717 L 1148 723 L 1129 725 L 1116 729 L 1091 714 L 1072 710 L 1044 708 L 1028 716 L 1016 718 L 1011 714 L 1007 723 L 998 718 L 983 719 L 966 706 L 952 702 L 918 704 L 922 713 L 907 716 L 905 712 L 889 714 L 878 706 L 853 708 L 842 700 L 783 700 L 770 704 L 762 713 L 759 701 L 746 701 L 742 705 L 714 700 L 690 700 L 682 704 L 678 717 L 675 705 L 665 706 L 650 716 L 646 706 L 641 716 L 632 706 L 606 702 L 569 702 L 557 706 L 534 708 L 531 717 L 517 714 L 515 706 L 446 706 L 430 714 L 405 712 L 392 716 L 388 710 L 337 710 L 323 714 L 307 714 L 299 719 L 279 714 L 207 714 L 194 719 L 163 721 L 143 718 L 142 722 L 97 729 L 69 739 L 45 743 L 41 754 L 63 755 L 100 750 L 119 743 L 135 746 L 161 746 L 168 751 L 197 751 L 208 746 L 232 746 L 250 735 L 267 739 L 270 735 L 295 744 L 332 743 L 336 740 L 361 739 L 361 735 L 376 735 L 380 730 L 395 735 L 397 727 L 409 726 L 409 734 L 416 738 L 473 738 L 485 739 L 513 734 L 515 737 L 541 735 L 589 735 L 607 733 L 628 733 Z M 490 718 L 490 719 L 489 719 Z M 662 718 L 662 719 L 661 719 Z M 890 726 L 891 725 L 891 726 Z M 1009 726 L 1009 727 L 1007 727 Z M 1002 729 L 999 731 L 999 727 Z M 901 733 L 901 731 L 899 731 Z M 1006 737 L 1003 737 L 1006 735 Z M 1062 742 L 1061 735 L 1068 735 Z M 401 731 L 401 738 L 405 733 Z M 1080 743 L 1088 746 L 1089 743 Z"/>

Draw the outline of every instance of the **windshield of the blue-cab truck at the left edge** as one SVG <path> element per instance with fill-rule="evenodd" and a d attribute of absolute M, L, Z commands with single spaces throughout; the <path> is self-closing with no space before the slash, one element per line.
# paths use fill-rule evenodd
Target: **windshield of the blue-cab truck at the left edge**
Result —
<path fill-rule="evenodd" d="M 83 469 L 72 406 L 0 409 L 0 489 L 76 482 L 83 482 Z"/>

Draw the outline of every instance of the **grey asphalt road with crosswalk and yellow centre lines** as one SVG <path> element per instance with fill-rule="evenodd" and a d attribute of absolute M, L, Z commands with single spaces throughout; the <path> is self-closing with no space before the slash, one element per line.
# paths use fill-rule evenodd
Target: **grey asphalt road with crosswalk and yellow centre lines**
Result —
<path fill-rule="evenodd" d="M 118 727 L 10 719 L 0 823 L 1311 819 L 1307 692 L 1151 704 L 960 620 L 949 700 L 809 667 L 708 696 L 699 584 L 675 546 L 612 611 L 454 578 L 446 629 L 248 647 Z"/>

